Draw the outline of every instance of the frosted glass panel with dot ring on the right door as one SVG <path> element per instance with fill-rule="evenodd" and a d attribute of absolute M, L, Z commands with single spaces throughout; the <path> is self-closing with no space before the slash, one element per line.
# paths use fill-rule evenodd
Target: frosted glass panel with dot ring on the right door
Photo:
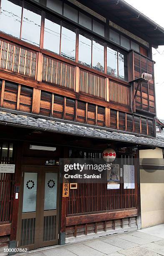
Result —
<path fill-rule="evenodd" d="M 56 210 L 57 173 L 45 173 L 44 210 Z"/>

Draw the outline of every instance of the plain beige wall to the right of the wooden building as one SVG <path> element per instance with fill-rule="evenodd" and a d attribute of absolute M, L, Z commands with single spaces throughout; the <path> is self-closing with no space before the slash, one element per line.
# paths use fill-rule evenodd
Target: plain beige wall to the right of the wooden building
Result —
<path fill-rule="evenodd" d="M 162 149 L 141 150 L 141 158 L 160 158 L 162 161 Z M 164 170 L 141 169 L 140 181 L 141 228 L 164 223 Z"/>

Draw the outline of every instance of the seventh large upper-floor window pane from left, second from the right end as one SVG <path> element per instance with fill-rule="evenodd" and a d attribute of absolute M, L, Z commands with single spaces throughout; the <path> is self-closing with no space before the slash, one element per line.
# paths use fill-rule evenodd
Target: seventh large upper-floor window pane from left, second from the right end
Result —
<path fill-rule="evenodd" d="M 118 77 L 117 51 L 107 47 L 107 74 Z"/>

